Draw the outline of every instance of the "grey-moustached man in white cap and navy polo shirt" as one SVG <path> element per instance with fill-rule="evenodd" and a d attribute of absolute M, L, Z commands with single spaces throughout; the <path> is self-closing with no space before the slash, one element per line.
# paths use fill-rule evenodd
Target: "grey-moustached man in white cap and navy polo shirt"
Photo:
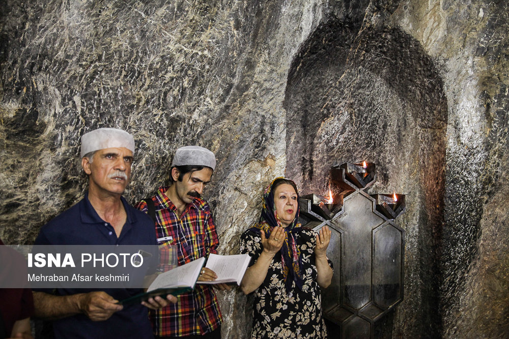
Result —
<path fill-rule="evenodd" d="M 154 223 L 129 206 L 122 193 L 129 182 L 134 138 L 119 129 L 101 128 L 81 137 L 81 166 L 89 190 L 76 205 L 47 223 L 40 245 L 152 245 Z M 57 289 L 56 295 L 34 292 L 35 315 L 53 321 L 59 338 L 151 338 L 146 307 L 176 302 L 161 297 L 129 306 L 117 304 L 140 289 Z M 145 307 L 146 306 L 146 307 Z"/>

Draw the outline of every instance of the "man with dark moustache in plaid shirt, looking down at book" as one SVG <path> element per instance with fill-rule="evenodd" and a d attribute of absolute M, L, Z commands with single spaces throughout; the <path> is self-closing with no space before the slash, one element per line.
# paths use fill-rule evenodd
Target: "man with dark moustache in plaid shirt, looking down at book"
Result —
<path fill-rule="evenodd" d="M 207 148 L 181 147 L 175 152 L 170 170 L 171 186 L 159 188 L 154 197 L 136 205 L 145 212 L 154 211 L 157 242 L 160 248 L 177 248 L 179 266 L 217 253 L 219 240 L 212 213 L 207 201 L 201 198 L 215 166 L 214 153 Z M 212 270 L 204 268 L 198 281 L 216 278 Z M 230 290 L 225 284 L 212 286 Z M 210 285 L 196 284 L 193 291 L 179 295 L 178 304 L 150 314 L 157 338 L 221 337 L 221 312 Z"/>

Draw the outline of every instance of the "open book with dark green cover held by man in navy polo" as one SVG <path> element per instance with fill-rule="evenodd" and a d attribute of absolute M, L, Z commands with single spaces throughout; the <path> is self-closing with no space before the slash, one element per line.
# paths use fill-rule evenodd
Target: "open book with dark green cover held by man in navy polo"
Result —
<path fill-rule="evenodd" d="M 150 284 L 147 292 L 120 300 L 119 304 L 140 303 L 158 295 L 165 298 L 168 294 L 177 295 L 192 291 L 204 263 L 205 258 L 202 257 L 161 273 L 152 284 Z"/>

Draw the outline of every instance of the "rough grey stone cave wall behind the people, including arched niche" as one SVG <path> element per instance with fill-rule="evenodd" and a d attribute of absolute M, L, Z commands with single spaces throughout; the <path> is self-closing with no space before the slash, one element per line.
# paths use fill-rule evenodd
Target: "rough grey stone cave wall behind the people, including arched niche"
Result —
<path fill-rule="evenodd" d="M 323 194 L 369 160 L 407 194 L 405 300 L 384 337 L 509 332 L 509 28 L 495 0 L 38 0 L 0 3 L 0 236 L 31 243 L 80 199 L 79 136 L 132 132 L 134 202 L 176 148 L 218 164 L 205 193 L 236 253 L 263 188 Z M 247 302 L 247 306 L 246 306 Z M 249 298 L 220 293 L 222 336 Z"/>

